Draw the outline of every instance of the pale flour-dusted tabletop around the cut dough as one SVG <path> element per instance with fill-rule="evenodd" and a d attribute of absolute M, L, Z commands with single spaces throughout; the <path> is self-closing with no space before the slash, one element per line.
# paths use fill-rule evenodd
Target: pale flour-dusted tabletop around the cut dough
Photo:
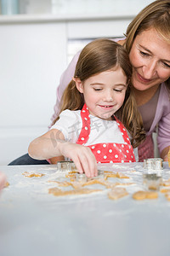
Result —
<path fill-rule="evenodd" d="M 48 194 L 56 187 L 49 181 L 66 180 L 66 172 L 57 172 L 56 166 L 1 166 L 9 186 L 0 195 L 0 255 L 169 256 L 170 201 L 160 192 L 154 200 L 132 198 L 144 189 L 142 163 L 102 164 L 99 170 L 129 177 L 108 178 L 132 183 L 121 186 L 129 195 L 112 201 L 109 189 L 94 184 L 87 188 L 103 191 L 57 197 Z M 44 176 L 26 177 L 24 172 Z M 160 174 L 170 178 L 167 163 Z"/>

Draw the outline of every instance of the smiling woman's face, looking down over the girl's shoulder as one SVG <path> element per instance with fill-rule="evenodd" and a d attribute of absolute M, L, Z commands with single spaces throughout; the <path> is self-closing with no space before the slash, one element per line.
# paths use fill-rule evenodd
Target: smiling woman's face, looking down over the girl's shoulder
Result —
<path fill-rule="evenodd" d="M 170 44 L 154 28 L 136 36 L 129 58 L 137 90 L 148 90 L 170 77 Z"/>

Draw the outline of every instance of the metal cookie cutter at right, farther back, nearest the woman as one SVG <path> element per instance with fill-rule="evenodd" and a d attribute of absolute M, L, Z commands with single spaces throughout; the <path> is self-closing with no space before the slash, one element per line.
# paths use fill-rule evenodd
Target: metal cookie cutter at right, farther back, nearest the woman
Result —
<path fill-rule="evenodd" d="M 161 158 L 144 159 L 144 169 L 160 171 L 162 170 L 162 162 Z"/>

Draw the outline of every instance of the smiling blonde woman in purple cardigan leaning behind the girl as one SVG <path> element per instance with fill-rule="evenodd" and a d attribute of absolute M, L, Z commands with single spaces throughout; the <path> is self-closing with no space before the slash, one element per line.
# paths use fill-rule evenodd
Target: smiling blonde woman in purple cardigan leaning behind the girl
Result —
<path fill-rule="evenodd" d="M 156 127 L 160 155 L 167 160 L 170 146 L 170 1 L 157 0 L 145 7 L 127 27 L 126 39 L 118 43 L 127 49 L 133 65 L 133 91 L 147 132 L 144 144 L 139 146 L 139 160 L 154 156 L 151 135 Z M 52 121 L 59 113 L 59 102 L 74 75 L 78 56 L 61 76 Z M 31 164 L 31 158 L 25 155 L 10 165 L 22 165 L 23 160 Z"/>

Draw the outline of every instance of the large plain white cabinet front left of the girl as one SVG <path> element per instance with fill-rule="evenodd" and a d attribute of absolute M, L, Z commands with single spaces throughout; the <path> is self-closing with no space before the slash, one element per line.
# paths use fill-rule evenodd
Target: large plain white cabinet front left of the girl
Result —
<path fill-rule="evenodd" d="M 0 164 L 47 131 L 66 66 L 65 23 L 1 24 Z"/>

